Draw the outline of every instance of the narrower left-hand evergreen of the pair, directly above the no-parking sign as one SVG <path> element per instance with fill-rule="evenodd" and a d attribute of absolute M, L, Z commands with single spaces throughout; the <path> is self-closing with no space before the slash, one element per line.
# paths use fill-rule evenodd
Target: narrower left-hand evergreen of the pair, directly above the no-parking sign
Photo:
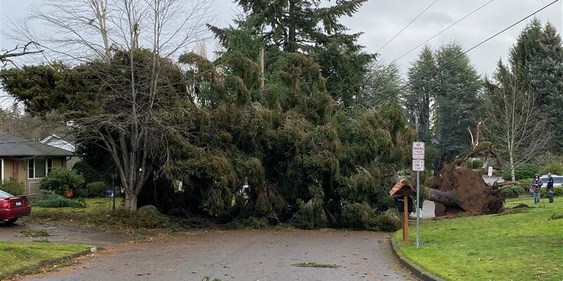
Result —
<path fill-rule="evenodd" d="M 428 46 L 424 46 L 418 60 L 408 70 L 408 81 L 411 83 L 403 94 L 407 119 L 415 125 L 415 117 L 419 122 L 419 139 L 431 141 L 430 115 L 431 102 L 436 96 L 435 73 L 436 60 Z"/>

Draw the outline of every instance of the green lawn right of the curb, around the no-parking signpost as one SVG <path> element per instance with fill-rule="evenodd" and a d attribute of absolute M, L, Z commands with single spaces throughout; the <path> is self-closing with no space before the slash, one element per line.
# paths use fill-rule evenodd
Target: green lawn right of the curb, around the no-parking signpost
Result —
<path fill-rule="evenodd" d="M 400 230 L 395 235 L 400 254 L 444 280 L 563 280 L 563 197 L 543 200 L 545 207 L 532 198 L 505 206 L 519 203 L 531 208 L 422 221 L 419 249 L 411 223 L 408 246 Z"/>

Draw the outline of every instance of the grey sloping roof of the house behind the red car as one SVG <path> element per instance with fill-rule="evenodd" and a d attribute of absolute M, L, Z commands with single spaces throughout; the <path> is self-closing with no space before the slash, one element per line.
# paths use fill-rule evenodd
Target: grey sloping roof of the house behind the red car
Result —
<path fill-rule="evenodd" d="M 0 130 L 0 157 L 72 156 L 73 152 L 28 141 Z"/>

